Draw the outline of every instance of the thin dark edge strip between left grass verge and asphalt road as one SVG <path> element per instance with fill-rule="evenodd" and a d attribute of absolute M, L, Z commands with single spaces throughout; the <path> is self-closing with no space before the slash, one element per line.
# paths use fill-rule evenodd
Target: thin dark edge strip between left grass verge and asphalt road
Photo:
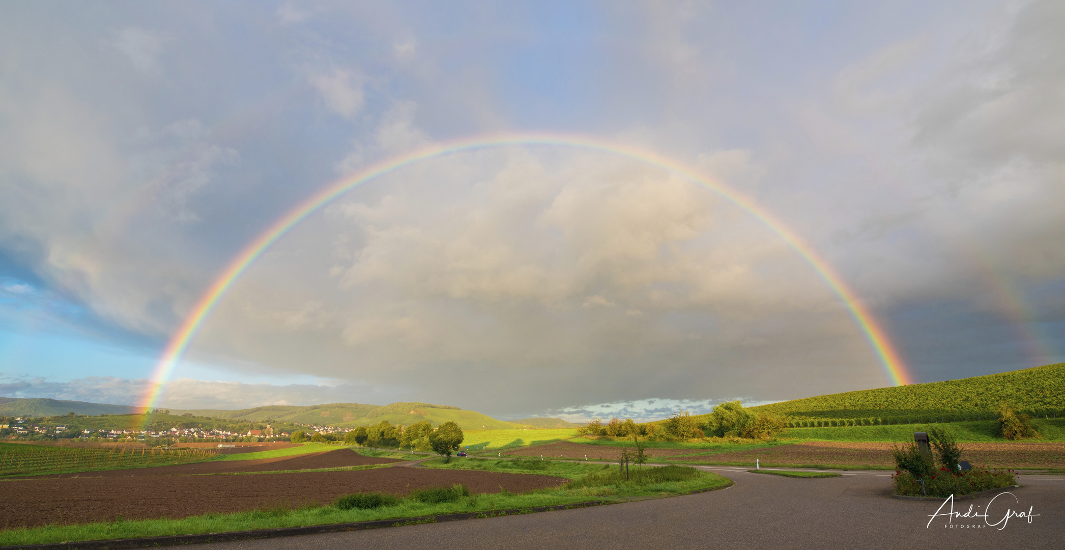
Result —
<path fill-rule="evenodd" d="M 685 495 L 691 495 L 694 492 L 705 492 L 706 490 L 714 490 L 714 489 L 699 489 Z M 231 540 L 280 538 L 280 537 L 298 536 L 298 535 L 313 535 L 320 533 L 335 533 L 341 531 L 363 531 L 366 529 L 415 525 L 422 523 L 440 523 L 443 521 L 460 521 L 464 519 L 517 516 L 522 514 L 534 514 L 538 512 L 554 512 L 558 509 L 586 508 L 590 506 L 601 506 L 604 504 L 615 504 L 617 502 L 621 501 L 592 500 L 587 502 L 576 502 L 573 504 L 555 504 L 553 506 L 532 506 L 528 508 L 496 509 L 496 511 L 485 511 L 485 512 L 463 512 L 460 514 L 441 514 L 439 516 L 375 519 L 370 521 L 354 521 L 349 523 L 325 523 L 322 525 L 308 525 L 298 528 L 255 529 L 251 531 L 231 531 L 228 533 L 165 535 L 165 536 L 151 536 L 143 538 L 105 538 L 101 540 L 49 543 L 44 545 L 0 546 L 0 550 L 55 550 L 55 549 L 71 549 L 71 548 L 79 550 L 121 550 L 129 548 L 198 545 L 207 543 L 226 543 Z"/>

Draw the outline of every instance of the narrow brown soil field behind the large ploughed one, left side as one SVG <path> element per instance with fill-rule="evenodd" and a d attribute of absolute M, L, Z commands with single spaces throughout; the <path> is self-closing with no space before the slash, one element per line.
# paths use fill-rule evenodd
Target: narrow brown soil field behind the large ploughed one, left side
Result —
<path fill-rule="evenodd" d="M 321 453 L 277 456 L 258 460 L 211 460 L 207 463 L 179 464 L 174 466 L 151 466 L 125 470 L 100 470 L 93 472 L 61 473 L 55 475 L 34 475 L 29 479 L 71 479 L 71 478 L 133 478 L 145 475 L 202 475 L 208 473 L 276 472 L 283 470 L 317 470 L 321 468 L 345 468 L 372 464 L 402 463 L 395 458 L 374 458 L 362 456 L 350 449 L 337 449 Z"/>

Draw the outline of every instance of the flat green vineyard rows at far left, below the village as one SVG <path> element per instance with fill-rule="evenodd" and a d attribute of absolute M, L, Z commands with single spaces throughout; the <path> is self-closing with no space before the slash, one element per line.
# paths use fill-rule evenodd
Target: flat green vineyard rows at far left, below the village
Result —
<path fill-rule="evenodd" d="M 116 470 L 212 460 L 209 449 L 71 449 L 0 443 L 0 476 Z"/>

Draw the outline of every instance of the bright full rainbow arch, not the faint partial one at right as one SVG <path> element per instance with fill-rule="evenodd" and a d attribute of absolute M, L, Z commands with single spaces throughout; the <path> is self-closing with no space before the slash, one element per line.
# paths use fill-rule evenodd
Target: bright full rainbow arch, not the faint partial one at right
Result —
<path fill-rule="evenodd" d="M 701 176 L 690 168 L 687 168 L 675 161 L 661 157 L 655 152 L 638 149 L 635 147 L 620 145 L 603 140 L 562 135 L 555 133 L 507 133 L 498 135 L 480 135 L 448 143 L 428 145 L 398 157 L 393 157 L 372 164 L 362 171 L 341 178 L 340 180 L 326 185 L 317 193 L 314 193 L 298 206 L 276 220 L 262 233 L 255 238 L 247 246 L 234 257 L 218 277 L 211 284 L 195 307 L 193 307 L 184 323 L 170 337 L 158 365 L 152 372 L 149 390 L 141 400 L 141 406 L 150 409 L 154 406 L 162 392 L 163 386 L 170 372 L 174 370 L 178 359 L 189 347 L 196 331 L 203 321 L 211 313 L 215 304 L 225 295 L 226 291 L 233 285 L 233 281 L 244 273 L 266 248 L 277 242 L 296 224 L 301 222 L 312 212 L 322 208 L 330 200 L 344 194 L 345 192 L 374 178 L 380 177 L 390 172 L 409 166 L 411 164 L 442 157 L 460 151 L 485 149 L 508 145 L 548 145 L 576 147 L 581 149 L 595 150 L 622 157 L 643 161 L 648 164 L 665 168 L 671 173 L 679 175 L 692 182 L 699 183 L 733 204 L 748 211 L 766 226 L 776 232 L 785 242 L 798 252 L 814 270 L 829 284 L 833 291 L 842 300 L 852 318 L 865 334 L 866 339 L 872 346 L 888 382 L 896 386 L 912 384 L 912 376 L 905 368 L 898 352 L 891 345 L 887 334 L 880 326 L 869 310 L 862 304 L 842 278 L 832 269 L 832 266 L 821 258 L 808 244 L 798 234 L 785 226 L 780 220 L 773 216 L 754 203 L 753 199 L 730 189 L 728 187 Z"/>

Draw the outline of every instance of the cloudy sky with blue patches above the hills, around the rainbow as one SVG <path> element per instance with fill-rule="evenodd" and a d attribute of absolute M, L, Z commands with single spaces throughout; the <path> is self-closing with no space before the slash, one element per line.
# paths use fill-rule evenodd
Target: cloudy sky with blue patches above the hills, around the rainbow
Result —
<path fill-rule="evenodd" d="M 231 261 L 332 182 L 541 132 L 799 236 L 914 382 L 1065 361 L 1065 4 L 10 3 L 0 395 L 135 404 Z M 338 196 L 252 262 L 170 408 L 503 419 L 892 384 L 780 231 L 675 171 L 511 144 Z"/>

